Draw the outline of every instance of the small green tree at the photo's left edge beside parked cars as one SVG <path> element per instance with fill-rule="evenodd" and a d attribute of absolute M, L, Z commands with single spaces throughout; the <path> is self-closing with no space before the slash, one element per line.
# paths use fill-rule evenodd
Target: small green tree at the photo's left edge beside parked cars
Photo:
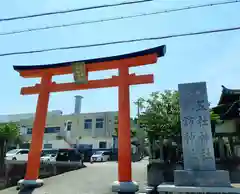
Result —
<path fill-rule="evenodd" d="M 0 172 L 4 172 L 4 157 L 8 143 L 19 140 L 19 127 L 17 124 L 0 124 Z"/>

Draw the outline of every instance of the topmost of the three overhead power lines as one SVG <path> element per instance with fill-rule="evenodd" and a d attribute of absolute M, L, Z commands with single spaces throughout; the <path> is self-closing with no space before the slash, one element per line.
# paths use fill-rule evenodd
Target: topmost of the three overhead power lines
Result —
<path fill-rule="evenodd" d="M 21 19 L 27 19 L 27 18 L 49 16 L 49 15 L 57 15 L 57 14 L 66 14 L 66 13 L 86 11 L 86 10 L 91 10 L 91 9 L 100 9 L 100 8 L 106 8 L 106 7 L 117 7 L 117 6 L 122 6 L 122 5 L 131 5 L 131 4 L 145 3 L 145 2 L 150 2 L 150 1 L 153 1 L 153 0 L 126 1 L 126 2 L 115 3 L 115 4 L 105 4 L 105 5 L 97 5 L 97 6 L 91 6 L 91 7 L 85 7 L 85 8 L 77 8 L 77 9 L 68 9 L 68 10 L 61 10 L 61 11 L 55 11 L 55 12 L 39 13 L 39 14 L 26 15 L 26 16 L 1 18 L 0 22 L 21 20 Z"/>

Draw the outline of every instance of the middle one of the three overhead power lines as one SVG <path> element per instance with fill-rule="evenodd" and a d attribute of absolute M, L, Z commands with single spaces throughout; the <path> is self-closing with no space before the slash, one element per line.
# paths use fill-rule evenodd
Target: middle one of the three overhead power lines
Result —
<path fill-rule="evenodd" d="M 182 8 L 166 9 L 166 10 L 160 10 L 160 11 L 155 11 L 155 12 L 150 12 L 150 13 L 140 13 L 140 14 L 136 14 L 136 15 L 119 16 L 119 17 L 106 18 L 106 19 L 101 19 L 101 20 L 90 20 L 90 21 L 75 22 L 75 23 L 69 23 L 69 24 L 61 24 L 61 25 L 45 26 L 45 27 L 39 27 L 39 28 L 30 28 L 30 29 L 24 29 L 24 30 L 16 30 L 16 31 L 10 31 L 10 32 L 2 32 L 2 33 L 0 33 L 0 36 L 20 34 L 20 33 L 25 33 L 25 32 L 41 31 L 41 30 L 49 30 L 49 29 L 54 29 L 54 28 L 63 28 L 63 27 L 69 27 L 69 26 L 78 26 L 78 25 L 84 25 L 84 24 L 109 22 L 109 21 L 114 21 L 114 20 L 131 19 L 131 18 L 137 18 L 137 17 L 143 17 L 143 16 L 157 15 L 157 14 L 163 14 L 163 13 L 170 13 L 170 12 L 177 12 L 177 11 L 184 11 L 184 10 L 189 10 L 189 9 L 197 9 L 197 8 L 219 6 L 219 5 L 233 4 L 233 3 L 240 3 L 240 0 L 231 0 L 231 1 L 224 1 L 224 2 L 221 1 L 221 2 L 216 2 L 216 3 L 201 4 L 201 5 L 190 5 L 190 6 L 182 7 Z"/>

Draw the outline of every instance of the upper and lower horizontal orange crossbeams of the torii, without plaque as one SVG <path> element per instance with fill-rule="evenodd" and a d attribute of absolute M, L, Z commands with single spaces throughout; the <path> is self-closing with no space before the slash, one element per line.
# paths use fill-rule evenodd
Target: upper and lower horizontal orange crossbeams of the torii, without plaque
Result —
<path fill-rule="evenodd" d="M 64 75 L 73 73 L 73 65 L 84 63 L 85 77 L 87 84 L 76 85 L 75 83 L 61 83 L 56 84 L 52 82 L 49 87 L 49 92 L 62 92 L 71 90 L 84 90 L 94 88 L 105 88 L 105 87 L 116 87 L 119 83 L 119 76 L 112 77 L 104 80 L 88 80 L 88 73 L 92 71 L 109 70 L 109 69 L 120 69 L 123 67 L 129 68 L 134 66 L 141 66 L 147 64 L 153 64 L 157 62 L 158 57 L 164 56 L 166 52 L 166 46 L 159 46 L 143 51 L 138 51 L 130 54 L 88 59 L 82 61 L 73 61 L 66 63 L 58 63 L 51 65 L 35 65 L 35 66 L 14 66 L 14 70 L 20 73 L 20 76 L 24 78 L 37 78 L 43 77 L 46 73 L 49 76 Z M 120 78 L 121 79 L 121 78 Z M 140 75 L 135 74 L 129 75 L 129 84 L 143 84 L 152 83 L 153 75 Z M 32 87 L 23 87 L 21 94 L 38 94 L 40 85 L 36 84 Z"/>

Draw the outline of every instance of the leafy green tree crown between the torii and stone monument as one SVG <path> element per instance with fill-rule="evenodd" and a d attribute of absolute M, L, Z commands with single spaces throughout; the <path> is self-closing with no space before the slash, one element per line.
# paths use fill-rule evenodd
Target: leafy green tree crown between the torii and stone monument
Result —
<path fill-rule="evenodd" d="M 144 110 L 139 119 L 149 136 L 170 138 L 180 134 L 180 108 L 177 91 L 153 92 L 148 99 L 143 101 L 143 107 Z"/>

